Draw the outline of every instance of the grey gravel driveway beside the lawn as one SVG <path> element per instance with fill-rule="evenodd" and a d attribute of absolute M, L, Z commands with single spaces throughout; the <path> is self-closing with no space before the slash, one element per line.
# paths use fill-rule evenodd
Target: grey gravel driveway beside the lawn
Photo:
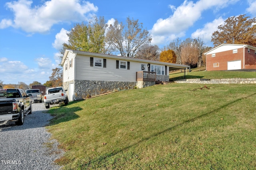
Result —
<path fill-rule="evenodd" d="M 45 125 L 51 119 L 44 103 L 33 103 L 24 124 L 0 122 L 0 170 L 58 170 L 54 160 L 63 153 Z"/>

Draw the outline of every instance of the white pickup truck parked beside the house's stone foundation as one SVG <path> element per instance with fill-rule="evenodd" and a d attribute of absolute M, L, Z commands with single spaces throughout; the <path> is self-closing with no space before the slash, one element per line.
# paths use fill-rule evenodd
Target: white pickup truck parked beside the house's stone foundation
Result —
<path fill-rule="evenodd" d="M 67 90 L 63 90 L 62 87 L 53 87 L 46 90 L 46 95 L 44 95 L 44 104 L 46 109 L 50 108 L 50 104 L 58 104 L 64 102 L 65 105 L 68 104 L 68 96 L 66 94 Z"/>

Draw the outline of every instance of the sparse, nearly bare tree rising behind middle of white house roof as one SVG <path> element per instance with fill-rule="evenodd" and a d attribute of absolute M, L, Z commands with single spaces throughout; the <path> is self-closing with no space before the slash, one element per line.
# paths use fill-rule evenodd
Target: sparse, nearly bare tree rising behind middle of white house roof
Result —
<path fill-rule="evenodd" d="M 121 56 L 135 57 L 138 49 L 152 40 L 150 33 L 143 29 L 142 25 L 143 23 L 130 19 L 130 17 L 126 19 L 126 25 L 115 20 L 106 33 L 108 44 Z"/>

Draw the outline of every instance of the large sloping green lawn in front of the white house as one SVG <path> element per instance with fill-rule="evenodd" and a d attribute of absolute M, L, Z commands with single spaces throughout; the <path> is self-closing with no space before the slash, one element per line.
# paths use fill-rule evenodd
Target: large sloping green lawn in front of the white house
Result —
<path fill-rule="evenodd" d="M 255 84 L 167 84 L 52 107 L 47 126 L 74 169 L 256 167 Z"/>

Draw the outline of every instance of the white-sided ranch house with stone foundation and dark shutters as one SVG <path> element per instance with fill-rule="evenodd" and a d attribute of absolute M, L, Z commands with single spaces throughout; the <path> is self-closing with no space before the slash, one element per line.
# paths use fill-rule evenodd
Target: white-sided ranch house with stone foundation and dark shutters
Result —
<path fill-rule="evenodd" d="M 169 70 L 190 66 L 66 49 L 61 61 L 68 99 L 169 81 Z"/>

